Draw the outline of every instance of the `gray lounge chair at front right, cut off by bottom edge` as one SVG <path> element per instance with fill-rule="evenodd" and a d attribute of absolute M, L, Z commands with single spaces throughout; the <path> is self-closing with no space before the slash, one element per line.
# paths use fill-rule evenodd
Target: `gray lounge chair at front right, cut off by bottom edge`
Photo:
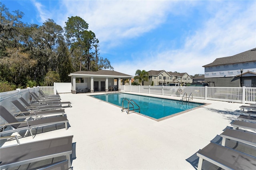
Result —
<path fill-rule="evenodd" d="M 202 169 L 203 160 L 207 160 L 225 170 L 256 169 L 256 158 L 254 156 L 213 142 L 196 152 L 196 155 L 199 157 L 198 170 Z"/>

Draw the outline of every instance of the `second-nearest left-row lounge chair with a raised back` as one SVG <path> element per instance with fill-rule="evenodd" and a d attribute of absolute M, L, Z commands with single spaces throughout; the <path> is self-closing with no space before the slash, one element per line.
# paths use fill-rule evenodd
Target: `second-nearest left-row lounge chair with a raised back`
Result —
<path fill-rule="evenodd" d="M 58 109 L 58 110 L 44 110 L 44 111 L 38 111 L 40 110 L 40 107 L 38 108 L 38 110 L 31 110 L 31 111 L 28 111 L 18 100 L 15 100 L 15 101 L 11 101 L 11 103 L 17 108 L 20 110 L 20 112 L 18 113 L 15 113 L 17 114 L 17 116 L 20 117 L 20 115 L 24 115 L 22 117 L 32 117 L 32 116 L 35 116 L 36 118 L 38 116 L 44 116 L 44 115 L 62 115 L 64 116 L 64 109 Z M 17 119 L 17 117 L 16 117 Z"/>

